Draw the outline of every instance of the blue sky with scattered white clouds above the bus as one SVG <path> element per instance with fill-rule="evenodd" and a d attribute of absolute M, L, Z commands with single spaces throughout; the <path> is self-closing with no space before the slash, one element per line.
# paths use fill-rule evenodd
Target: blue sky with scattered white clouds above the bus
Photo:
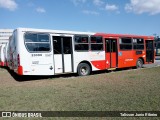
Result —
<path fill-rule="evenodd" d="M 160 0 L 0 0 L 0 29 L 160 35 Z"/>

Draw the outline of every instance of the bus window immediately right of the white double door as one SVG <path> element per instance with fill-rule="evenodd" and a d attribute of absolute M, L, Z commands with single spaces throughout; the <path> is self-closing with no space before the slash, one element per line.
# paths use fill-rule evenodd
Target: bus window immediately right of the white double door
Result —
<path fill-rule="evenodd" d="M 74 42 L 75 42 L 76 51 L 88 51 L 89 50 L 88 36 L 75 36 Z"/>

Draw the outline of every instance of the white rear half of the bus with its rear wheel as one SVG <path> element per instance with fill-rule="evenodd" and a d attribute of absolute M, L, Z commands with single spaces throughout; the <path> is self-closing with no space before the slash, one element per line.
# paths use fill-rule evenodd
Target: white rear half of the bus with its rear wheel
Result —
<path fill-rule="evenodd" d="M 19 75 L 88 75 L 99 70 L 91 61 L 105 59 L 102 37 L 94 34 L 17 28 L 8 46 L 8 66 Z M 98 43 L 90 48 L 91 36 Z"/>

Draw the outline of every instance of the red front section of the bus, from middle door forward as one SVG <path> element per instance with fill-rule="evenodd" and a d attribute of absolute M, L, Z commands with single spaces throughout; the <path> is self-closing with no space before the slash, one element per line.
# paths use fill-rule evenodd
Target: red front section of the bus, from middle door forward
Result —
<path fill-rule="evenodd" d="M 96 34 L 105 43 L 106 69 L 134 67 L 154 63 L 154 37 L 123 34 Z M 104 66 L 104 65 L 103 65 Z"/>

